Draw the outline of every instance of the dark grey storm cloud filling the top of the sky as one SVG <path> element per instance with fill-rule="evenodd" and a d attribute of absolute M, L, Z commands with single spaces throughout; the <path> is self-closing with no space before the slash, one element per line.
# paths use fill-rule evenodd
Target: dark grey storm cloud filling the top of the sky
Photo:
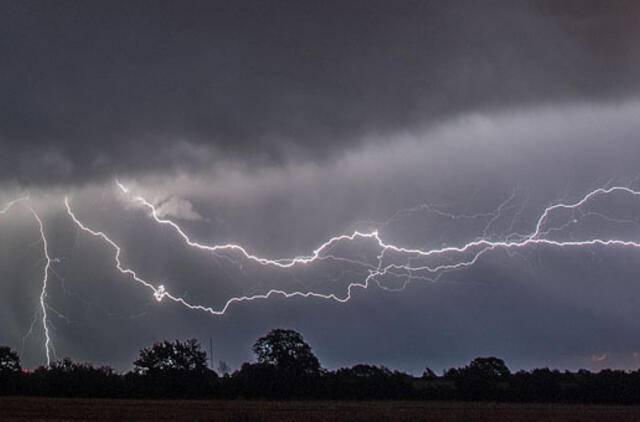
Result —
<path fill-rule="evenodd" d="M 463 111 L 635 95 L 637 3 L 560 3 L 4 2 L 0 177 L 318 160 Z"/>

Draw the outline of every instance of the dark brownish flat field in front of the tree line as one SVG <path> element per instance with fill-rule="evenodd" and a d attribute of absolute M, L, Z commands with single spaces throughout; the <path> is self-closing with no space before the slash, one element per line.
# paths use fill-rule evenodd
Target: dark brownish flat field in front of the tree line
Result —
<path fill-rule="evenodd" d="M 640 420 L 640 406 L 0 398 L 0 421 L 25 420 L 626 422 Z"/>

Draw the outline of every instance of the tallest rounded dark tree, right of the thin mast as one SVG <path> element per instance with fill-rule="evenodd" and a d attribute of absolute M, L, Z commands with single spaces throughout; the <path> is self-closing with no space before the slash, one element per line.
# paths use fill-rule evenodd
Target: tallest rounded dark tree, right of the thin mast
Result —
<path fill-rule="evenodd" d="M 310 375 L 320 372 L 318 358 L 302 335 L 294 330 L 273 329 L 260 337 L 252 350 L 259 363 Z"/>

